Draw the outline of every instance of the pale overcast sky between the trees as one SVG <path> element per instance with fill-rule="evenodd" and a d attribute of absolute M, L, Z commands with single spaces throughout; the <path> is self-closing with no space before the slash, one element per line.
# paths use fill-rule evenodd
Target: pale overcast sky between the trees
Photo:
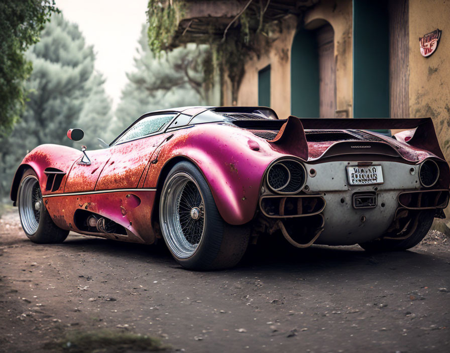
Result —
<path fill-rule="evenodd" d="M 148 0 L 56 0 L 66 20 L 78 24 L 94 46 L 95 69 L 106 78 L 106 93 L 119 103 L 126 72 L 133 70 Z"/>

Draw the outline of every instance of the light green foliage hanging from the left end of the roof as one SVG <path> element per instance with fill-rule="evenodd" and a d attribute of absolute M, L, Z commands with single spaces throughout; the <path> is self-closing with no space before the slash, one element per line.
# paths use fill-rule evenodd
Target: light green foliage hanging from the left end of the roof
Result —
<path fill-rule="evenodd" d="M 173 0 L 149 0 L 147 10 L 148 43 L 150 50 L 159 54 L 170 47 L 178 21 L 184 15 L 184 2 Z"/>

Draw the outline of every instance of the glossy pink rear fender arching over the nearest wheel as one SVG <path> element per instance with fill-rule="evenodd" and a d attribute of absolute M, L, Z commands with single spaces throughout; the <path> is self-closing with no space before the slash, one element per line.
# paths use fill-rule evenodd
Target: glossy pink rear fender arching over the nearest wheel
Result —
<path fill-rule="evenodd" d="M 262 175 L 283 154 L 232 126 L 205 124 L 173 134 L 155 151 L 158 162 L 150 165 L 144 188 L 156 188 L 162 167 L 170 159 L 184 156 L 205 176 L 222 218 L 234 225 L 249 222 L 255 214 Z"/>

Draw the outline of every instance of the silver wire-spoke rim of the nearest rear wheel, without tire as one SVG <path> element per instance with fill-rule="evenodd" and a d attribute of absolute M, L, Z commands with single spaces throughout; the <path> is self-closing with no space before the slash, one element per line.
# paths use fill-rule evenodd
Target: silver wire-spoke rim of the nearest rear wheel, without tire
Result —
<path fill-rule="evenodd" d="M 194 254 L 205 230 L 205 207 L 197 182 L 177 172 L 161 195 L 161 228 L 173 254 L 186 259 Z"/>

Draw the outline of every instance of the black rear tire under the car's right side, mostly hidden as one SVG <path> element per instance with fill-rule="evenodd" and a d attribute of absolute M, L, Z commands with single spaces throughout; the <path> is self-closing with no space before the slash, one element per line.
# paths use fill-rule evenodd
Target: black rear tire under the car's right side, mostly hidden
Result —
<path fill-rule="evenodd" d="M 371 252 L 381 252 L 381 251 L 401 251 L 410 249 L 417 244 L 419 244 L 422 239 L 427 235 L 431 228 L 431 224 L 434 219 L 434 210 L 422 211 L 417 217 L 419 221 L 416 230 L 411 234 L 410 237 L 403 240 L 395 239 L 375 239 L 371 242 L 358 244 L 364 250 Z"/>

